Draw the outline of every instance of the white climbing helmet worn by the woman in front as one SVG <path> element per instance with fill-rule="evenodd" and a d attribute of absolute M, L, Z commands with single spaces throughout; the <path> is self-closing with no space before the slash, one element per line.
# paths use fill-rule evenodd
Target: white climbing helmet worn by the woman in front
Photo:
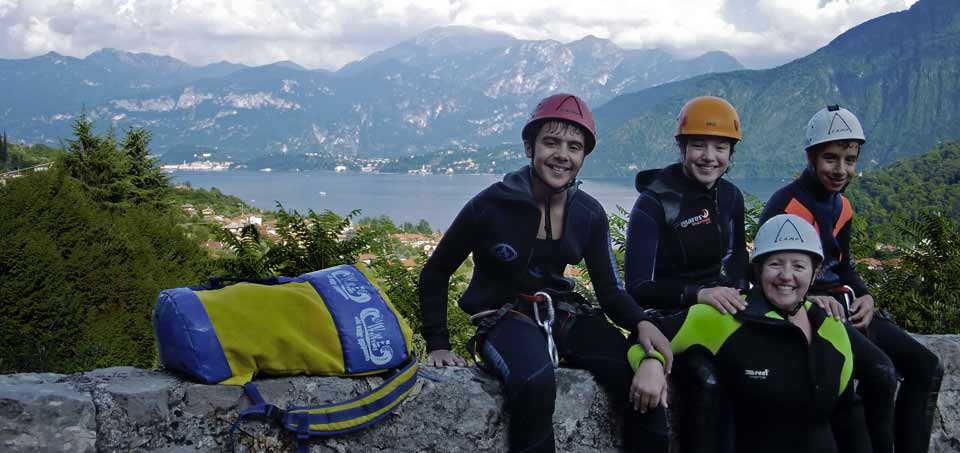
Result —
<path fill-rule="evenodd" d="M 760 226 L 753 240 L 750 262 L 755 263 L 763 255 L 774 252 L 804 252 L 823 261 L 817 230 L 803 217 L 793 214 L 773 216 Z"/>

